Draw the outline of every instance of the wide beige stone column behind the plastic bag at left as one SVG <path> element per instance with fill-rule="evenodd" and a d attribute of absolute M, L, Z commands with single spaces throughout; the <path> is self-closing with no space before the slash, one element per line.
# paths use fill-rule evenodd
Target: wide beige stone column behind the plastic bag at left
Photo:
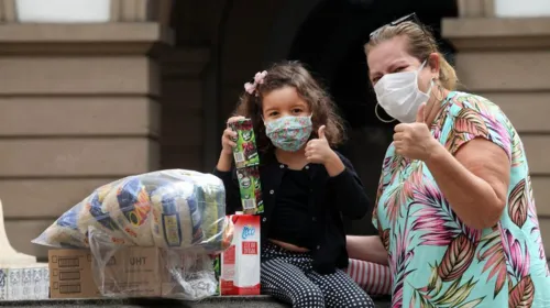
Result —
<path fill-rule="evenodd" d="M 160 167 L 169 2 L 112 0 L 112 22 L 98 24 L 22 24 L 0 2 L 0 197 L 16 250 L 45 257 L 30 241 L 61 213 Z"/>

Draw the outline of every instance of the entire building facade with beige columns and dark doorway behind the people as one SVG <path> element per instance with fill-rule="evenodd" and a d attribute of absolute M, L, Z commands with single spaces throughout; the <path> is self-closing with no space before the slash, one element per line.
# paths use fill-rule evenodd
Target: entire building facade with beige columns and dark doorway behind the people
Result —
<path fill-rule="evenodd" d="M 462 85 L 516 125 L 549 250 L 550 19 L 496 18 L 487 0 L 388 2 L 111 0 L 107 23 L 35 24 L 0 0 L 0 198 L 13 246 L 46 256 L 30 241 L 106 182 L 209 172 L 242 85 L 284 58 L 311 64 L 334 90 L 351 123 L 342 151 L 374 198 L 391 129 L 375 123 L 363 94 L 361 40 L 402 6 L 441 25 Z M 350 72 L 363 77 L 348 80 Z M 372 232 L 369 220 L 350 222 L 352 232 Z"/>

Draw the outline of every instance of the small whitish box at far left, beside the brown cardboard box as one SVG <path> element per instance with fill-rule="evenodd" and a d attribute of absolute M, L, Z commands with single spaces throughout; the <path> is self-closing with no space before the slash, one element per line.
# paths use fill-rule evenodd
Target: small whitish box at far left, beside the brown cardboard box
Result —
<path fill-rule="evenodd" d="M 48 292 L 47 264 L 0 268 L 0 300 L 47 299 Z"/>

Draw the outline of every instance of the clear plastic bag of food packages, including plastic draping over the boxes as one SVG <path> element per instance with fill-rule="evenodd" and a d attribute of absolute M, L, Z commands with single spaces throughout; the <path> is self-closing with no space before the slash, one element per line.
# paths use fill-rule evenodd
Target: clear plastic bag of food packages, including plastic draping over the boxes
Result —
<path fill-rule="evenodd" d="M 183 169 L 160 170 L 97 188 L 33 242 L 90 250 L 96 266 L 92 272 L 103 295 L 109 294 L 101 288 L 106 285 L 106 266 L 112 265 L 120 250 L 156 248 L 180 289 L 177 295 L 199 299 L 216 293 L 208 255 L 224 251 L 232 241 L 232 222 L 224 215 L 226 193 L 218 177 Z M 211 287 L 197 290 L 205 285 Z M 120 286 L 118 292 L 124 293 Z"/>

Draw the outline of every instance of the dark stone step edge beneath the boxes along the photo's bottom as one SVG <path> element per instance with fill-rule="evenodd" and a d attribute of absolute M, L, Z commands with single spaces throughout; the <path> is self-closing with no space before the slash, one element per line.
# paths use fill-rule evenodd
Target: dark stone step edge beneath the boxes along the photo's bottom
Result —
<path fill-rule="evenodd" d="M 289 307 L 275 301 L 270 296 L 227 296 L 227 297 L 210 297 L 200 301 L 183 301 L 166 298 L 127 298 L 127 299 L 50 299 L 50 300 L 21 300 L 21 301 L 1 301 L 2 307 L 78 307 L 78 308 L 96 308 L 96 307 L 119 307 L 119 308 L 136 308 L 136 307 L 178 307 L 178 308 L 282 308 Z M 389 300 L 376 300 L 376 307 L 388 308 Z"/>

